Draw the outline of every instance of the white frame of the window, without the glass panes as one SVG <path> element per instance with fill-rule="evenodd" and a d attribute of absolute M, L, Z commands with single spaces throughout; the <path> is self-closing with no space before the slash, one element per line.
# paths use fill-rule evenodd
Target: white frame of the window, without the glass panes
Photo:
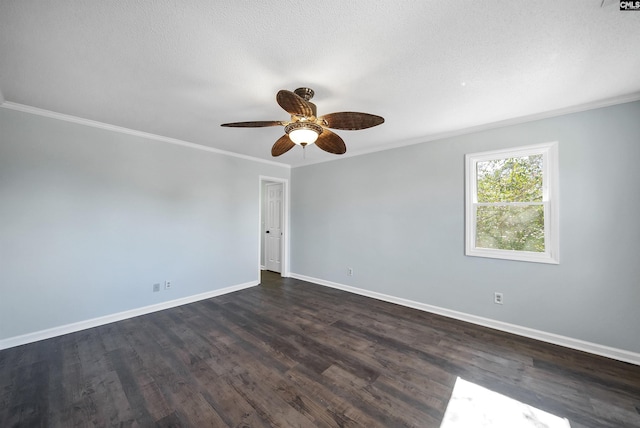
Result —
<path fill-rule="evenodd" d="M 544 207 L 545 252 L 498 250 L 476 247 L 476 213 L 478 204 L 477 164 L 496 159 L 542 155 L 542 205 Z M 550 142 L 465 155 L 465 254 L 494 259 L 536 263 L 560 263 L 558 216 L 558 143 Z M 514 203 L 516 204 L 516 203 Z M 505 203 L 504 205 L 510 205 Z"/>

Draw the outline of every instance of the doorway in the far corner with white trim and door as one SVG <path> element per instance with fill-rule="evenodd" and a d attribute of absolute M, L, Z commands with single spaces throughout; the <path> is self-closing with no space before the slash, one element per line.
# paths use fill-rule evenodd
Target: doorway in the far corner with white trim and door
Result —
<path fill-rule="evenodd" d="M 260 269 L 287 276 L 288 181 L 260 177 Z"/>

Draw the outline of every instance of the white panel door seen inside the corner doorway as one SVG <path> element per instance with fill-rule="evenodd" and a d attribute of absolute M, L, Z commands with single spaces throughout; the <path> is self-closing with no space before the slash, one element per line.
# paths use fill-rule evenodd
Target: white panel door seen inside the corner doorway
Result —
<path fill-rule="evenodd" d="M 265 267 L 282 272 L 282 183 L 266 186 L 266 218 L 264 227 Z"/>

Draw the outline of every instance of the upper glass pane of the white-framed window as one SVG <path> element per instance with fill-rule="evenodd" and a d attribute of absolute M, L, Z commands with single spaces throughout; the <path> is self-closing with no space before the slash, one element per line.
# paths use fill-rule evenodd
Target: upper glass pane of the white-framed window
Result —
<path fill-rule="evenodd" d="M 542 202 L 542 155 L 476 164 L 478 202 Z"/>

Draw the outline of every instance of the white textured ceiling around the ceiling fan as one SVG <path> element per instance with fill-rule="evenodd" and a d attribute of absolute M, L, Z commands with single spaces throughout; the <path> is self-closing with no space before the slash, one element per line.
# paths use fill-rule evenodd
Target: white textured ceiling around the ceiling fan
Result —
<path fill-rule="evenodd" d="M 613 0 L 1 0 L 0 102 L 272 158 L 279 89 L 308 86 L 347 155 L 640 99 L 640 12 Z M 346 156 L 346 155 L 345 155 Z"/>

